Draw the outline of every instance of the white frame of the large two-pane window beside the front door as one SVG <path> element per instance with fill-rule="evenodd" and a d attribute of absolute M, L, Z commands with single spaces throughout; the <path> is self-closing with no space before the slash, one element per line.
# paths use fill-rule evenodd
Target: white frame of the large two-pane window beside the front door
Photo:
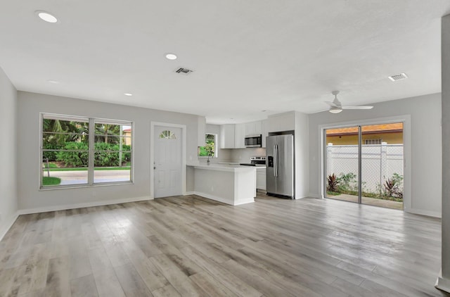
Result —
<path fill-rule="evenodd" d="M 88 132 L 88 166 L 87 166 L 87 182 L 83 184 L 64 184 L 64 185 L 51 185 L 51 186 L 43 186 L 42 179 L 46 171 L 44 170 L 42 163 L 44 162 L 44 151 L 47 151 L 44 148 L 44 119 L 51 120 L 65 120 L 65 121 L 80 121 L 87 122 L 89 125 Z M 129 126 L 131 127 L 131 145 L 129 151 L 124 151 L 122 149 L 122 153 L 129 152 L 130 153 L 130 178 L 125 181 L 117 181 L 117 182 L 94 182 L 94 158 L 95 158 L 95 137 L 96 137 L 96 129 L 95 125 L 98 123 L 103 124 L 111 124 L 111 125 L 120 125 L 120 126 Z M 113 119 L 105 119 L 105 118 L 92 118 L 92 117 L 83 117 L 78 115 L 61 115 L 56 113 L 40 113 L 39 116 L 39 190 L 47 191 L 53 189 L 72 189 L 72 188 L 84 188 L 84 187 L 103 187 L 110 185 L 120 185 L 120 184 L 134 184 L 134 122 L 129 120 L 113 120 Z M 123 135 L 117 135 L 120 139 L 123 139 Z M 60 150 L 55 149 L 52 151 L 68 151 L 68 150 Z M 115 152 L 115 151 L 108 151 Z"/>

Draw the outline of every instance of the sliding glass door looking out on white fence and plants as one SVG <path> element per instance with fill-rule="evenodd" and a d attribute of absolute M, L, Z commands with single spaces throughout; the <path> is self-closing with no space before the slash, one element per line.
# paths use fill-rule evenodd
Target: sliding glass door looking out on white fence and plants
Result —
<path fill-rule="evenodd" d="M 326 198 L 404 209 L 404 123 L 324 129 Z"/>

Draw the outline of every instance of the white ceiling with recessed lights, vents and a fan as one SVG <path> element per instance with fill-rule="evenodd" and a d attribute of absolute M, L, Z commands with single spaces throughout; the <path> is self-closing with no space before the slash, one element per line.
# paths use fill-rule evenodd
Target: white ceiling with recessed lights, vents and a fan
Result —
<path fill-rule="evenodd" d="M 22 91 L 246 122 L 324 110 L 335 89 L 345 105 L 441 91 L 446 13 L 448 0 L 2 0 L 0 67 Z"/>

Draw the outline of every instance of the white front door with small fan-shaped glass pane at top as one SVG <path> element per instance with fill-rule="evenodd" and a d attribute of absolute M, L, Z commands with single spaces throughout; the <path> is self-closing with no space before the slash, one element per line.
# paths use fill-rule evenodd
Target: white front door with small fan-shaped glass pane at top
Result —
<path fill-rule="evenodd" d="M 181 128 L 155 126 L 155 198 L 181 195 Z"/>

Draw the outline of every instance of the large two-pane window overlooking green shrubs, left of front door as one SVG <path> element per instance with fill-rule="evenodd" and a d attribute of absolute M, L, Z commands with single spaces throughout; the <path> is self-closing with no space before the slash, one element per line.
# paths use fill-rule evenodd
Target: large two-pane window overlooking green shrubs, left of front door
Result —
<path fill-rule="evenodd" d="M 132 181 L 132 122 L 42 114 L 41 125 L 41 189 Z"/>

